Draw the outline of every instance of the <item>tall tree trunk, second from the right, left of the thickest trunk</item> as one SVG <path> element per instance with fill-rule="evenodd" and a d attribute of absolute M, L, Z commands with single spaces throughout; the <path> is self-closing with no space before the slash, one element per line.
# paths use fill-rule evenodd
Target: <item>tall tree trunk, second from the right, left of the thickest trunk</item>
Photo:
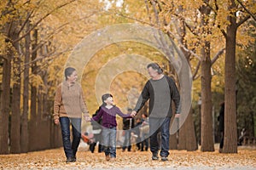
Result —
<path fill-rule="evenodd" d="M 211 8 L 201 6 L 201 151 L 214 151 L 214 143 L 212 138 L 212 75 L 211 75 L 211 43 L 204 40 L 211 32 L 207 26 L 209 25 L 208 16 Z"/>

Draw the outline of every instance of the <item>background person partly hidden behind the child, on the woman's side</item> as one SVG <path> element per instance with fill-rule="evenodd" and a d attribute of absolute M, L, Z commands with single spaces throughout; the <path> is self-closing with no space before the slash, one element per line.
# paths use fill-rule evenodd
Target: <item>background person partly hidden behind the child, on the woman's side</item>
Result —
<path fill-rule="evenodd" d="M 95 114 L 93 114 L 93 116 L 96 116 L 97 113 L 99 112 L 100 108 L 96 111 Z M 94 136 L 94 140 L 93 142 L 90 144 L 90 152 L 94 153 L 95 147 L 97 142 L 99 142 L 98 145 L 98 152 L 101 153 L 102 152 L 102 118 L 99 121 L 92 121 L 91 122 L 91 126 L 92 126 L 92 133 Z"/>

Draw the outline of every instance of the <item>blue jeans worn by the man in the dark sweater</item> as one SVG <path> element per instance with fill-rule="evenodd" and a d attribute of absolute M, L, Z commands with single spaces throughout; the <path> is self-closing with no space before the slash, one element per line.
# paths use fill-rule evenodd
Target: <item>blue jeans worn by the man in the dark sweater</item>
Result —
<path fill-rule="evenodd" d="M 149 117 L 149 135 L 150 135 L 150 150 L 153 154 L 157 154 L 159 148 L 160 156 L 169 155 L 169 127 L 170 127 L 170 117 L 166 118 L 153 118 Z M 161 147 L 157 140 L 157 134 L 161 132 Z"/>

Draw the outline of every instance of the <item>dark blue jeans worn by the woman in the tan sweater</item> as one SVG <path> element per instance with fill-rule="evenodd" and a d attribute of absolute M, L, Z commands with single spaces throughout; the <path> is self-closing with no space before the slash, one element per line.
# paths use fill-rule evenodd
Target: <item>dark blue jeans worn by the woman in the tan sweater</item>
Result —
<path fill-rule="evenodd" d="M 60 117 L 62 142 L 66 157 L 76 157 L 81 139 L 81 118 Z M 70 123 L 72 123 L 73 141 L 70 141 Z"/>

